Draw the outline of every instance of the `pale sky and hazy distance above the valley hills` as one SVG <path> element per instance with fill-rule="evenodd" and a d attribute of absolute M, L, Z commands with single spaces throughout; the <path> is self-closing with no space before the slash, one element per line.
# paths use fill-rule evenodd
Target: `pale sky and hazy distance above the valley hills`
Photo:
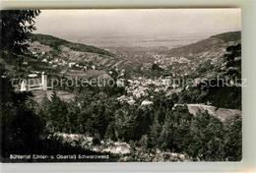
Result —
<path fill-rule="evenodd" d="M 73 40 L 131 35 L 202 37 L 240 30 L 241 14 L 240 9 L 42 10 L 35 27 L 37 33 Z"/>

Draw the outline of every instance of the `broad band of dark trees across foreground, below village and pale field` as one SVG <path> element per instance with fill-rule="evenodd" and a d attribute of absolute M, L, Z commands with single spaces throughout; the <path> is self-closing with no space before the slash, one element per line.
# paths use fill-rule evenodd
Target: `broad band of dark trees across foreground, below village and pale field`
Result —
<path fill-rule="evenodd" d="M 107 97 L 103 92 L 89 90 L 78 95 L 76 101 L 59 101 L 59 98 L 48 100 L 48 104 L 44 105 L 46 109 L 42 107 L 41 112 L 46 111 L 45 114 L 48 115 L 45 121 L 54 125 L 49 128 L 94 137 L 95 144 L 102 140 L 126 142 L 144 148 L 145 153 L 156 152 L 159 148 L 163 151 L 185 153 L 192 160 L 241 159 L 240 115 L 221 122 L 208 112 L 193 116 L 186 106 L 176 106 L 173 109 L 173 104 L 120 104 L 113 95 Z M 54 108 L 57 112 L 47 112 L 52 107 L 59 108 Z M 141 154 L 143 160 L 143 153 Z M 138 155 L 134 157 L 138 158 Z"/>

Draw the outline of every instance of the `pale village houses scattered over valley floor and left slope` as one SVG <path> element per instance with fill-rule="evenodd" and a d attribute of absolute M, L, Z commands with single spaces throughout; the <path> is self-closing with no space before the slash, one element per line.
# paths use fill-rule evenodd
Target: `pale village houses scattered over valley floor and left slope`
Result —
<path fill-rule="evenodd" d="M 32 56 L 37 58 L 41 63 L 45 64 L 48 67 L 53 69 L 60 69 L 60 73 L 66 73 L 70 71 L 70 73 L 74 73 L 72 76 L 79 77 L 79 74 L 87 74 L 88 71 L 97 71 L 96 65 L 92 62 L 73 62 L 61 59 L 59 57 L 53 58 L 48 52 L 32 50 Z M 159 54 L 154 56 L 155 64 L 158 64 L 161 68 L 166 69 L 167 66 L 171 65 L 174 62 L 182 63 L 189 62 L 184 57 L 165 57 L 163 58 Z M 24 62 L 25 66 L 28 66 L 28 62 Z M 164 65 L 164 66 L 163 66 Z M 149 70 L 152 67 L 152 64 L 145 64 L 142 67 L 142 70 Z M 145 69 L 146 68 L 146 69 Z M 130 105 L 136 103 L 136 100 L 139 100 L 142 97 L 147 97 L 141 104 L 149 105 L 153 104 L 151 98 L 153 98 L 152 93 L 164 92 L 165 95 L 171 95 L 172 93 L 178 93 L 182 89 L 189 89 L 190 86 L 186 84 L 181 84 L 180 79 L 177 77 L 177 74 L 171 73 L 166 77 L 159 77 L 155 79 L 147 78 L 147 77 L 138 77 L 133 76 L 130 79 L 125 79 L 126 71 L 125 69 L 119 69 L 118 67 L 113 67 L 111 70 L 104 72 L 99 75 L 97 78 L 111 79 L 113 73 L 117 73 L 116 85 L 117 87 L 125 87 L 126 95 L 121 95 L 117 98 L 120 102 L 126 102 Z M 181 75 L 183 78 L 187 74 Z M 52 86 L 47 85 L 47 74 L 45 72 L 31 71 L 31 74 L 28 75 L 28 79 L 24 80 L 20 83 L 17 90 L 25 91 L 25 90 L 35 90 L 35 89 L 54 89 Z M 179 81 L 175 81 L 179 80 Z M 126 84 L 124 82 L 127 82 Z M 194 79 L 192 84 L 198 84 L 200 79 Z"/>

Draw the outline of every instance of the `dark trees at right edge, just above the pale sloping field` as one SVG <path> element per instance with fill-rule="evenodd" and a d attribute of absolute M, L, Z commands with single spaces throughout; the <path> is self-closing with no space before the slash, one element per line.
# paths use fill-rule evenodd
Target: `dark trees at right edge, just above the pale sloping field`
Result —
<path fill-rule="evenodd" d="M 210 61 L 201 64 L 198 72 L 204 73 L 211 68 Z M 197 87 L 190 87 L 179 94 L 180 103 L 210 101 L 216 107 L 241 109 L 241 44 L 226 47 L 224 64 L 218 75 L 213 75 Z M 217 68 L 217 67 L 216 67 Z M 219 71 L 219 70 L 217 70 Z M 227 83 L 228 82 L 228 83 Z"/>

